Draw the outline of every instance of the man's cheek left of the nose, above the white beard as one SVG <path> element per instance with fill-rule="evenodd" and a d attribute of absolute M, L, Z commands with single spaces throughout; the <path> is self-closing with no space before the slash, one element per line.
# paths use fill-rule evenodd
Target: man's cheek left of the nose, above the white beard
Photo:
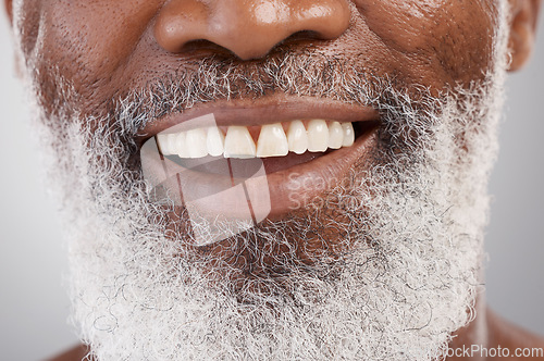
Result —
<path fill-rule="evenodd" d="M 86 103 L 123 72 L 162 1 L 27 1 L 21 28 L 27 63 L 40 85 L 52 72 L 67 79 Z M 57 74 L 55 74 L 57 75 Z M 100 97 L 102 96 L 102 97 Z"/>

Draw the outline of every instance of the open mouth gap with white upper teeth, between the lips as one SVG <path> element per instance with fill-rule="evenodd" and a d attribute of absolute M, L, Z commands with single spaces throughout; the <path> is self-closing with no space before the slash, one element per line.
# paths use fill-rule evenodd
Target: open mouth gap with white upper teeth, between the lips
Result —
<path fill-rule="evenodd" d="M 194 159 L 214 157 L 262 160 L 267 174 L 307 163 L 324 153 L 351 147 L 369 124 L 294 120 L 261 126 L 210 126 L 156 136 L 163 157 L 193 167 Z M 200 164 L 200 161 L 196 162 Z"/>

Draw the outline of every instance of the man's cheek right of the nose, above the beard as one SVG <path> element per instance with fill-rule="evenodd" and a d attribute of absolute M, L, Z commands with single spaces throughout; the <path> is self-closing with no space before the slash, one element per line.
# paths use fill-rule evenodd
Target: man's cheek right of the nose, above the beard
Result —
<path fill-rule="evenodd" d="M 437 87 L 468 84 L 491 65 L 495 11 L 482 0 L 355 1 L 403 73 Z"/>

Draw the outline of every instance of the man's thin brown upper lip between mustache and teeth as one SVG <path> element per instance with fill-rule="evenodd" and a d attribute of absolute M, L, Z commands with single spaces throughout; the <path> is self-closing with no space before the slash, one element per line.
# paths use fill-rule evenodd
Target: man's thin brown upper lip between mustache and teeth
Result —
<path fill-rule="evenodd" d="M 148 138 L 185 121 L 213 114 L 218 126 L 264 125 L 305 119 L 337 122 L 378 121 L 379 112 L 371 107 L 349 104 L 338 100 L 311 97 L 267 97 L 259 99 L 221 100 L 202 103 L 184 112 L 169 113 L 149 122 L 136 139 L 141 145 Z"/>

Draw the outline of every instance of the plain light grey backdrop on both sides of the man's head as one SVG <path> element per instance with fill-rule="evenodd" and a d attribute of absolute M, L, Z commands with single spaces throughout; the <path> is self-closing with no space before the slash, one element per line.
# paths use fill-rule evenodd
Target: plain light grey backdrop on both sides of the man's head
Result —
<path fill-rule="evenodd" d="M 532 61 L 508 80 L 507 121 L 491 190 L 486 238 L 492 308 L 544 334 L 544 22 Z M 0 354 L 38 360 L 76 343 L 67 326 L 66 271 L 55 206 L 44 190 L 28 113 L 0 16 Z"/>

